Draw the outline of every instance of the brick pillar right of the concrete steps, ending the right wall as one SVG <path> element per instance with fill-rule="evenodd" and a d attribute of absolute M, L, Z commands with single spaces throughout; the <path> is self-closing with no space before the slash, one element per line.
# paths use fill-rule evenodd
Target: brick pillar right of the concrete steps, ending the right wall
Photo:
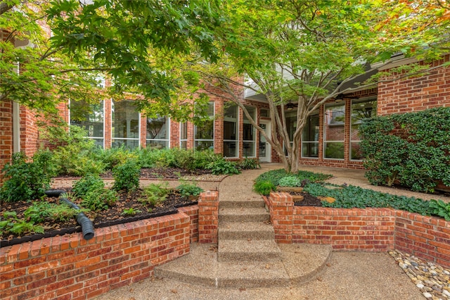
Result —
<path fill-rule="evenodd" d="M 269 212 L 275 230 L 275 242 L 292 244 L 293 242 L 293 197 L 288 193 L 270 193 Z"/>

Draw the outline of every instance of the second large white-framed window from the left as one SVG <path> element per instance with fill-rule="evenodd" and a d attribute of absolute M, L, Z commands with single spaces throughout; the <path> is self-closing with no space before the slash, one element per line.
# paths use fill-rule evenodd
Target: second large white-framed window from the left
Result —
<path fill-rule="evenodd" d="M 112 146 L 139 148 L 139 112 L 133 101 L 113 101 Z"/>

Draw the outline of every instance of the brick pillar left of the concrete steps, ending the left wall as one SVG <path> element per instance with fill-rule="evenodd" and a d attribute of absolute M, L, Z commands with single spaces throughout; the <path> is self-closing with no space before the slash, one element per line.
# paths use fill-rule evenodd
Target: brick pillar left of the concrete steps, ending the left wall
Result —
<path fill-rule="evenodd" d="M 207 191 L 198 199 L 198 242 L 217 244 L 219 192 Z"/>

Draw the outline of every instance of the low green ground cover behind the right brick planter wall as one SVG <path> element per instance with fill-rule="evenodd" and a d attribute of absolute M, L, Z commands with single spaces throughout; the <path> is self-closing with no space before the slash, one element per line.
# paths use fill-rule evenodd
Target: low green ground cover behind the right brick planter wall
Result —
<path fill-rule="evenodd" d="M 285 173 L 284 170 L 271 170 L 257 177 L 255 191 L 267 195 L 274 191 L 277 185 L 302 186 L 304 188 L 301 194 L 305 196 L 306 201 L 304 203 L 300 201 L 298 205 L 301 206 L 394 208 L 450 220 L 450 203 L 444 203 L 442 200 L 425 201 L 415 197 L 395 196 L 352 185 L 331 185 L 323 182 L 328 177 L 329 175 L 301 173 L 301 171 L 298 175 L 292 175 Z M 332 198 L 333 201 L 321 200 L 325 197 Z"/>

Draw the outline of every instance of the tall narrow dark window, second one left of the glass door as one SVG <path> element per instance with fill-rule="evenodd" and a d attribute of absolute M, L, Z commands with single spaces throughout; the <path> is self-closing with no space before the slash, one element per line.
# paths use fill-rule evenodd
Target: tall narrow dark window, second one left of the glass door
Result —
<path fill-rule="evenodd" d="M 238 157 L 238 106 L 236 104 L 224 107 L 224 156 Z"/>

